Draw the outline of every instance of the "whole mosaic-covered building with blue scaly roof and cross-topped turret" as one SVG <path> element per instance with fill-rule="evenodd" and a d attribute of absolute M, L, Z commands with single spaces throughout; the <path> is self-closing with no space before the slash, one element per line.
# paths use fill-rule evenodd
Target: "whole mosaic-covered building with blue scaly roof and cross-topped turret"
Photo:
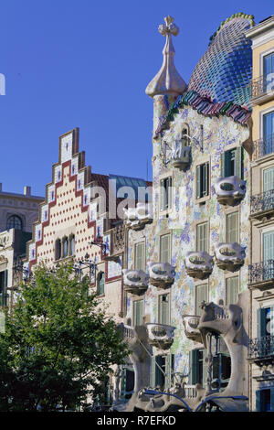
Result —
<path fill-rule="evenodd" d="M 248 410 L 246 31 L 253 26 L 253 16 L 227 18 L 188 86 L 174 67 L 174 19 L 159 27 L 163 66 L 146 89 L 153 98 L 153 220 L 136 229 L 126 213 L 125 336 L 135 372 L 128 411 Z"/>

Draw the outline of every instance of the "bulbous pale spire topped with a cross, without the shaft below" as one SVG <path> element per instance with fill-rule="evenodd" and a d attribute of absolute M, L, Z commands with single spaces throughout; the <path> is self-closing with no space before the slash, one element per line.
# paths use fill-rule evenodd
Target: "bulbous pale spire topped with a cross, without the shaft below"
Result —
<path fill-rule="evenodd" d="M 186 83 L 174 66 L 175 49 L 172 35 L 177 36 L 179 27 L 175 26 L 173 16 L 166 16 L 164 22 L 165 25 L 161 24 L 158 27 L 159 33 L 166 38 L 163 47 L 163 65 L 145 89 L 150 97 L 160 94 L 179 95 L 186 90 Z"/>

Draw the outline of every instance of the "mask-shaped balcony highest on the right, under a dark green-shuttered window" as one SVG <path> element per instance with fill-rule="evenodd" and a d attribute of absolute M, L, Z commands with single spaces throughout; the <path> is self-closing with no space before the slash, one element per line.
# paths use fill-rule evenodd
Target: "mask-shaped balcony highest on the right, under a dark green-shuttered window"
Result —
<path fill-rule="evenodd" d="M 246 181 L 238 177 L 220 177 L 214 186 L 221 205 L 236 206 L 246 195 Z"/>

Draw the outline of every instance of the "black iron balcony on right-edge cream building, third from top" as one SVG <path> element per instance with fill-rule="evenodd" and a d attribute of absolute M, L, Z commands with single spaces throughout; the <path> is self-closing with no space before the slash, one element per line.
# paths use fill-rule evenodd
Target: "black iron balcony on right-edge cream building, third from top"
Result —
<path fill-rule="evenodd" d="M 274 189 L 256 194 L 250 198 L 250 218 L 261 220 L 274 215 Z"/>

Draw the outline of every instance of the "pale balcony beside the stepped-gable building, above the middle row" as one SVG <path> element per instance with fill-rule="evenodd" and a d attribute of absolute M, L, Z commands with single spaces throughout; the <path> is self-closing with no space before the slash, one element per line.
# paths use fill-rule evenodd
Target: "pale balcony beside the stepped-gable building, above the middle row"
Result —
<path fill-rule="evenodd" d="M 136 208 L 124 209 L 126 225 L 132 230 L 142 230 L 145 224 L 153 222 L 152 203 L 139 202 Z"/>

